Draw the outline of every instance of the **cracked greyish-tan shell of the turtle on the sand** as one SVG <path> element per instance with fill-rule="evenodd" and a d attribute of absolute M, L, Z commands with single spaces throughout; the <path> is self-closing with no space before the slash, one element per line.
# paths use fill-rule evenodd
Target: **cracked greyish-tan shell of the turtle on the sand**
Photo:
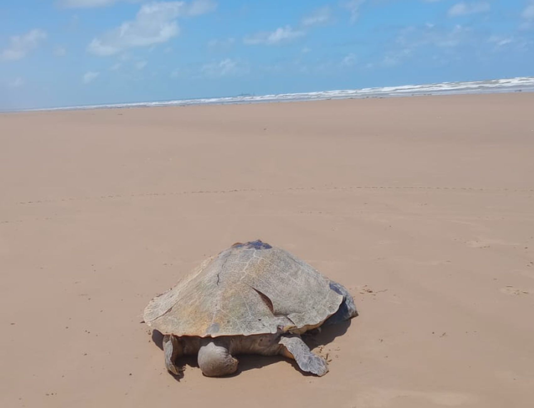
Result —
<path fill-rule="evenodd" d="M 321 325 L 342 301 L 312 266 L 258 240 L 208 258 L 152 299 L 144 320 L 176 336 L 301 333 Z"/>

